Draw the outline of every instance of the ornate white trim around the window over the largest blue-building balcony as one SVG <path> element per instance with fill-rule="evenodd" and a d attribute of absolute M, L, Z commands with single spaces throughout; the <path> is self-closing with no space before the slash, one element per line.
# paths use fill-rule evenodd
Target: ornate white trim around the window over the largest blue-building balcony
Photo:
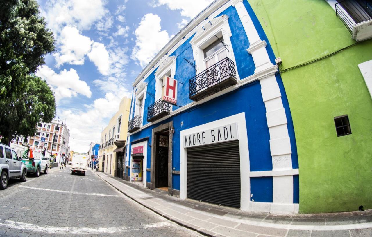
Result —
<path fill-rule="evenodd" d="M 227 45 L 228 51 L 226 52 L 228 58 L 234 62 L 234 68 L 236 71 L 236 78 L 239 80 L 239 74 L 236 66 L 236 60 L 234 56 L 234 51 L 232 49 L 230 37 L 232 36 L 230 26 L 228 23 L 228 16 L 222 15 L 211 19 L 201 29 L 196 32 L 195 36 L 190 40 L 193 56 L 196 65 L 196 74 L 204 71 L 206 69 L 204 62 L 204 53 L 203 50 L 209 46 L 211 43 L 215 42 L 219 32 L 222 33 L 224 43 Z"/>

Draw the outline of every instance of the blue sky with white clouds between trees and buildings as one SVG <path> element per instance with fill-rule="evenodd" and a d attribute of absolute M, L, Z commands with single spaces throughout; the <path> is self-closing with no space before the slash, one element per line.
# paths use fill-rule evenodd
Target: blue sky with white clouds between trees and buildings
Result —
<path fill-rule="evenodd" d="M 144 66 L 213 0 L 37 1 L 56 44 L 36 75 L 54 92 L 71 150 L 86 152 Z"/>

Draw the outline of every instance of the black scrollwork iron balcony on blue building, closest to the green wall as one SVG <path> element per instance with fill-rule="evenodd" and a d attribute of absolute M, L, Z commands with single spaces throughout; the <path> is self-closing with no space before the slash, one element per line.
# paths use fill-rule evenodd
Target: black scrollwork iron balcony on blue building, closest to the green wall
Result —
<path fill-rule="evenodd" d="M 224 58 L 191 78 L 190 100 L 199 101 L 209 95 L 237 84 L 235 64 L 230 58 Z"/>

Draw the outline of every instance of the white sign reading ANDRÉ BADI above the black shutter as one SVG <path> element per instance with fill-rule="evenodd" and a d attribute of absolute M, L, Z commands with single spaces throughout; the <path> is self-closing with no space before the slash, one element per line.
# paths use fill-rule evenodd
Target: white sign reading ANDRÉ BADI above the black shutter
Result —
<path fill-rule="evenodd" d="M 202 146 L 238 139 L 237 123 L 189 134 L 182 137 L 183 147 Z"/>

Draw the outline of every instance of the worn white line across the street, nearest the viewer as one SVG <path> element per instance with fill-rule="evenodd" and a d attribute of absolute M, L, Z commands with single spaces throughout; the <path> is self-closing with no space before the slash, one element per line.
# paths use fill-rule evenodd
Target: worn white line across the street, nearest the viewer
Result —
<path fill-rule="evenodd" d="M 23 222 L 16 222 L 10 220 L 4 220 L 5 223 L 0 223 L 0 226 L 10 227 L 18 230 L 28 229 L 31 230 L 33 233 L 41 233 L 47 232 L 48 234 L 56 233 L 57 231 L 63 231 L 66 233 L 71 234 L 101 234 L 101 233 L 116 233 L 116 232 L 123 232 L 123 231 L 130 231 L 130 230 L 141 230 L 141 229 L 148 229 L 148 228 L 159 228 L 159 227 L 167 227 L 173 226 L 173 224 L 169 222 L 159 222 L 159 223 L 152 223 L 152 224 L 145 224 L 140 225 L 139 227 L 99 227 L 99 228 L 87 228 L 87 227 L 55 227 L 51 225 L 35 225 Z"/>

